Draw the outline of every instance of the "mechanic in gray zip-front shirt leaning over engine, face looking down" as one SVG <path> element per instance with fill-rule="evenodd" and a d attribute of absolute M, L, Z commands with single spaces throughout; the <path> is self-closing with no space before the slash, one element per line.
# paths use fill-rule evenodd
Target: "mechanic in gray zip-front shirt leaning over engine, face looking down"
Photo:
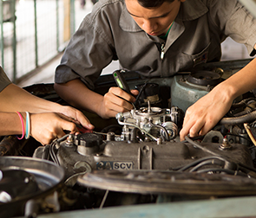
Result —
<path fill-rule="evenodd" d="M 93 91 L 111 61 L 146 78 L 169 77 L 220 61 L 220 43 L 227 36 L 255 55 L 256 20 L 236 0 L 102 0 L 83 19 L 56 67 L 56 92 L 103 119 L 115 117 L 132 109 L 126 100 L 135 98 L 118 87 L 104 96 Z M 207 133 L 233 99 L 256 87 L 255 62 L 188 108 L 181 140 Z"/>

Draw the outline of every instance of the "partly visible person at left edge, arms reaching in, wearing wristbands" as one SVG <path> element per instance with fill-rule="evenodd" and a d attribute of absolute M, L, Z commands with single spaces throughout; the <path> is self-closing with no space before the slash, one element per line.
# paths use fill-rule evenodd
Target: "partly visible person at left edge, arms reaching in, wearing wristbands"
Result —
<path fill-rule="evenodd" d="M 41 144 L 62 138 L 66 131 L 79 132 L 76 125 L 92 130 L 82 112 L 40 99 L 13 84 L 0 67 L 0 136 L 32 136 Z"/>

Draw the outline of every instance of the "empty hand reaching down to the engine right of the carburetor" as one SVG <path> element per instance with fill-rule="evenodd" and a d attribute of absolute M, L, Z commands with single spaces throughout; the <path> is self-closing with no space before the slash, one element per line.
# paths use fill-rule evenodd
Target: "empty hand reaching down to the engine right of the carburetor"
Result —
<path fill-rule="evenodd" d="M 210 93 L 188 107 L 180 131 L 181 141 L 189 137 L 205 135 L 210 131 L 232 106 L 233 99 L 222 90 L 221 86 L 214 87 Z"/>

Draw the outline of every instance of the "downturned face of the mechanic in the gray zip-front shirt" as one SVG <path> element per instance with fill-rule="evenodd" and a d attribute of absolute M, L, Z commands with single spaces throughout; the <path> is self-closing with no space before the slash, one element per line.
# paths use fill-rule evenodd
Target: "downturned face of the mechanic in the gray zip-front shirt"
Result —
<path fill-rule="evenodd" d="M 125 0 L 128 13 L 148 35 L 165 35 L 181 7 L 181 2 L 164 2 L 158 8 L 146 9 L 137 0 Z"/>

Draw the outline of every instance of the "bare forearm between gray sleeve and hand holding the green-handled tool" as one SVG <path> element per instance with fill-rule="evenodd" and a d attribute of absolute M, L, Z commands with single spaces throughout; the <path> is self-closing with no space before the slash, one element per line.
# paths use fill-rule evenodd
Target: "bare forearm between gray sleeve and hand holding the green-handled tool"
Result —
<path fill-rule="evenodd" d="M 67 83 L 55 84 L 55 89 L 56 93 L 69 102 L 71 106 L 100 115 L 99 109 L 103 96 L 89 90 L 81 80 L 70 80 Z"/>

